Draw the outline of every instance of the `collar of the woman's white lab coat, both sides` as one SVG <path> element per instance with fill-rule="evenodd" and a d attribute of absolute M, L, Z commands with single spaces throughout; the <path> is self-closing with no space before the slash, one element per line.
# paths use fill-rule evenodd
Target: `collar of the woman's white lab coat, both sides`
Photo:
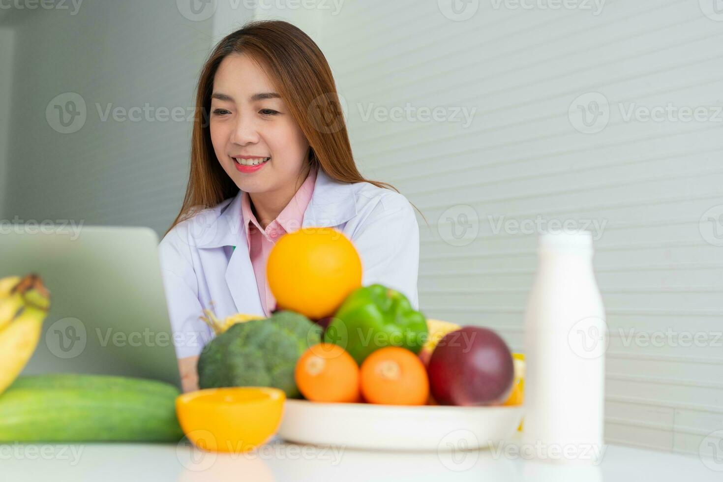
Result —
<path fill-rule="evenodd" d="M 218 218 L 202 226 L 202 233 L 194 235 L 202 239 L 195 242 L 198 248 L 218 248 L 221 246 L 239 246 L 246 237 L 241 200 L 244 191 L 218 204 Z M 346 223 L 356 215 L 356 196 L 351 183 L 330 178 L 320 167 L 314 181 L 312 199 L 304 211 L 303 227 L 334 227 Z M 198 231 L 194 228 L 194 231 Z"/>

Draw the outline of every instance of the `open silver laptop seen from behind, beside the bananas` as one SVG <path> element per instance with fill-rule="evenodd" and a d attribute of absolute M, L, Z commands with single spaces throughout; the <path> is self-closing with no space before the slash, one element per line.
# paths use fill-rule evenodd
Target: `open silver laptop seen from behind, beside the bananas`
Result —
<path fill-rule="evenodd" d="M 51 308 L 22 374 L 137 376 L 181 388 L 155 231 L 5 228 L 0 277 L 31 272 L 50 291 Z"/>

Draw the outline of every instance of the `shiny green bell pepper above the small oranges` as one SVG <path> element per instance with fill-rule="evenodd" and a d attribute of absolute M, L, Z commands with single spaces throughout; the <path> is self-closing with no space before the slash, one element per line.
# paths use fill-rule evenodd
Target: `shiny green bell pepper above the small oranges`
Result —
<path fill-rule="evenodd" d="M 399 291 L 369 285 L 357 288 L 344 300 L 324 341 L 345 348 L 361 365 L 374 350 L 385 346 L 419 353 L 427 341 L 427 320 Z"/>

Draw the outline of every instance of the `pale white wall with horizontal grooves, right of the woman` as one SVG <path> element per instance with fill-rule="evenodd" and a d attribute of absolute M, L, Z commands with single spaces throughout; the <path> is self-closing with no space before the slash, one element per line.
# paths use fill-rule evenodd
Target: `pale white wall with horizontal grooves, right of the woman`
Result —
<path fill-rule="evenodd" d="M 478 3 L 468 20 L 445 16 L 436 1 L 307 11 L 321 22 L 314 38 L 348 104 L 357 163 L 431 224 L 419 219 L 421 308 L 493 327 L 521 350 L 536 234 L 495 226 L 538 216 L 599 223 L 606 439 L 697 454 L 723 429 L 723 247 L 712 231 L 723 212 L 722 124 L 628 121 L 618 104 L 716 115 L 723 22 L 698 1 L 609 0 L 601 12 L 469 5 Z M 585 130 L 578 104 L 594 108 L 595 96 L 576 101 L 588 92 L 611 106 L 594 134 L 575 127 Z M 403 111 L 402 121 L 384 119 L 407 103 L 442 107 L 446 120 Z M 366 119 L 370 108 L 378 116 Z M 474 111 L 469 125 L 455 121 L 457 110 Z M 716 206 L 716 221 L 701 223 Z M 454 238 L 450 219 L 465 237 Z M 684 346 L 695 335 L 703 344 Z"/>

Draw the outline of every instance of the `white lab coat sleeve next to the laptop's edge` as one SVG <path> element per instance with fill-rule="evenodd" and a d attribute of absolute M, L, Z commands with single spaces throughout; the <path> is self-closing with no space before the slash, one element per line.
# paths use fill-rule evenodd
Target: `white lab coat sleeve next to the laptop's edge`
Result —
<path fill-rule="evenodd" d="M 171 233 L 163 238 L 158 254 L 176 358 L 186 358 L 199 355 L 212 334 L 208 325 L 200 319 L 203 309 L 188 246 L 172 241 L 173 238 Z"/>

